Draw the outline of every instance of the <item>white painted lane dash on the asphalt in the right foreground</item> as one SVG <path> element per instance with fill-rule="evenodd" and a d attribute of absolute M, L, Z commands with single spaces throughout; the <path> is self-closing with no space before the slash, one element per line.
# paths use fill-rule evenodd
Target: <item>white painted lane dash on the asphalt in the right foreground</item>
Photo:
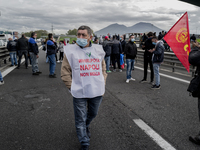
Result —
<path fill-rule="evenodd" d="M 149 135 L 163 150 L 176 150 L 171 144 L 165 141 L 158 133 L 156 133 L 151 127 L 149 127 L 141 119 L 133 119 L 147 135 Z"/>

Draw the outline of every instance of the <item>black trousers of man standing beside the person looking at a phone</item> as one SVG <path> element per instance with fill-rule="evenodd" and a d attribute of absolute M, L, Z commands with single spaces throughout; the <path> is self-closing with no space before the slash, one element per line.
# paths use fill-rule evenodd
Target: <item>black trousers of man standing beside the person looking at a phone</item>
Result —
<path fill-rule="evenodd" d="M 152 57 L 148 55 L 144 55 L 144 78 L 147 80 L 147 70 L 148 70 L 148 64 L 150 65 L 151 70 L 151 81 L 154 80 L 154 71 L 153 71 L 153 63 L 152 63 Z"/>

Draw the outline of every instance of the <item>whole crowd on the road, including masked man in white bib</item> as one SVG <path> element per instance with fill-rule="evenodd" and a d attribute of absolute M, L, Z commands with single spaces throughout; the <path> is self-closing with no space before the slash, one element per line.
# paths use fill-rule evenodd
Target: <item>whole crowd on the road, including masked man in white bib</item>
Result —
<path fill-rule="evenodd" d="M 149 32 L 147 35 L 143 34 L 141 38 L 143 42 L 141 46 L 144 50 L 144 76 L 140 83 L 147 82 L 147 70 L 150 66 L 152 89 L 161 88 L 159 68 L 164 60 L 164 34 L 160 33 L 157 37 L 155 33 Z M 11 66 L 15 65 L 17 69 L 20 69 L 21 58 L 24 55 L 25 68 L 28 68 L 29 59 L 32 75 L 38 76 L 42 72 L 38 67 L 39 49 L 35 41 L 36 38 L 35 32 L 31 34 L 29 40 L 24 34 L 20 39 L 12 40 L 10 38 L 7 48 L 10 52 Z M 57 44 L 53 34 L 48 34 L 48 38 L 42 43 L 43 50 L 46 52 L 46 62 L 49 63 L 50 78 L 56 78 L 56 62 L 62 62 L 61 79 L 73 96 L 75 126 L 82 150 L 88 150 L 90 145 L 89 125 L 98 114 L 103 99 L 102 95 L 105 93 L 107 74 L 117 71 L 123 72 L 125 58 L 126 83 L 135 81 L 132 77 L 132 71 L 135 70 L 134 63 L 137 57 L 137 45 L 133 34 L 129 36 L 127 42 L 124 35 L 111 37 L 110 34 L 105 36 L 104 40 L 101 36 L 100 38 L 95 37 L 93 43 L 91 41 L 91 28 L 81 26 L 77 31 L 77 40 L 73 41 L 72 44 L 69 44 L 69 41 L 65 43 L 65 40 L 60 40 Z M 191 37 L 191 41 L 195 46 L 197 42 L 194 36 Z M 198 44 L 195 47 L 198 47 Z M 57 59 L 58 52 L 59 60 Z M 199 74 L 199 67 L 197 73 Z M 2 84 L 4 81 L 0 72 L 0 85 Z M 200 135 L 196 137 L 196 140 L 200 141 Z"/>

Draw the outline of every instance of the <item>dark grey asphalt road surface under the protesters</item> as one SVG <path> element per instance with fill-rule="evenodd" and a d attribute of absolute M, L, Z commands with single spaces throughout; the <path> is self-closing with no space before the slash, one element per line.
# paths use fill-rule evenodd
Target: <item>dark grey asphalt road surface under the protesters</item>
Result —
<path fill-rule="evenodd" d="M 137 65 L 141 67 L 141 65 Z M 0 150 L 78 150 L 72 96 L 60 79 L 48 77 L 49 64 L 40 51 L 40 76 L 31 68 L 15 69 L 0 87 Z M 190 77 L 162 72 L 190 80 Z M 188 84 L 161 77 L 161 90 L 141 84 L 143 71 L 135 69 L 135 82 L 127 84 L 125 70 L 108 75 L 99 114 L 91 124 L 90 150 L 161 150 L 133 119 L 141 119 L 178 150 L 200 149 L 189 135 L 200 130 L 197 100 Z"/>

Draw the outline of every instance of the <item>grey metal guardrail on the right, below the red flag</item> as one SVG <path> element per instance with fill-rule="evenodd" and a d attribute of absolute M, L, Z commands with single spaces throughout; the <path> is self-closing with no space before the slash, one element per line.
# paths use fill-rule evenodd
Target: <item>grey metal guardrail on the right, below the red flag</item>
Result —
<path fill-rule="evenodd" d="M 138 50 L 136 63 L 137 61 L 144 61 L 144 50 Z M 179 59 L 173 52 L 164 53 L 164 62 L 162 63 L 162 65 L 170 67 L 172 69 L 172 72 L 175 72 L 177 69 L 185 70 L 185 67 L 182 65 L 182 63 L 179 61 Z M 190 71 L 192 72 L 193 77 L 195 74 L 195 67 L 191 65 Z"/>

